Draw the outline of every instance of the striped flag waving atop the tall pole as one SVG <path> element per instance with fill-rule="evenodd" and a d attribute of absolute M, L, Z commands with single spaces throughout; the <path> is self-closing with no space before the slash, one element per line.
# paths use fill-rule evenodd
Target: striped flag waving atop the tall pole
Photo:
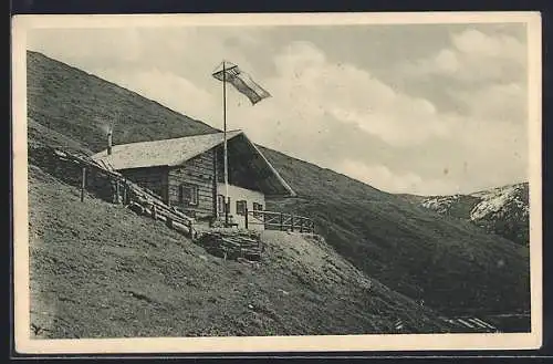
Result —
<path fill-rule="evenodd" d="M 252 105 L 271 96 L 271 94 L 257 84 L 248 73 L 240 70 L 238 65 L 233 63 L 223 61 L 212 75 L 219 81 L 223 81 L 225 77 L 225 81 L 233 85 L 240 93 L 244 94 L 251 101 Z"/>

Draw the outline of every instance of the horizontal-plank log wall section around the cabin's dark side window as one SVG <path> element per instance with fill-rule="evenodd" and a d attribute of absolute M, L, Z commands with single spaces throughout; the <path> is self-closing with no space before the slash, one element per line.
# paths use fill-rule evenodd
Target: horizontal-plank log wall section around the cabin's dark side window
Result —
<path fill-rule="evenodd" d="M 213 200 L 215 158 L 213 150 L 205 152 L 187 160 L 184 165 L 169 169 L 169 204 L 180 208 L 185 214 L 192 212 L 197 218 L 215 216 Z M 181 184 L 195 185 L 198 188 L 198 205 L 184 206 L 179 201 Z"/>

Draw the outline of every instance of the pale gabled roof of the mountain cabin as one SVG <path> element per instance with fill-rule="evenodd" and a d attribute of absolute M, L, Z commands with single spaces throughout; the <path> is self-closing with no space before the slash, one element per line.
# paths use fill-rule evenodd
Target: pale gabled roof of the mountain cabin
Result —
<path fill-rule="evenodd" d="M 238 136 L 241 137 L 237 138 Z M 273 191 L 274 195 L 285 194 L 295 196 L 295 193 L 288 183 L 242 131 L 227 132 L 227 142 L 233 139 L 236 139 L 237 143 L 246 144 L 251 153 L 258 155 L 259 158 L 257 158 L 258 163 L 255 167 L 265 169 L 271 175 L 271 187 L 265 189 Z M 217 132 L 171 139 L 118 144 L 112 147 L 111 155 L 107 155 L 107 149 L 104 149 L 93 155 L 92 159 L 115 170 L 161 166 L 175 167 L 211 148 L 222 145 L 223 142 L 223 133 Z M 269 180 L 267 180 L 267 183 L 269 183 Z"/>

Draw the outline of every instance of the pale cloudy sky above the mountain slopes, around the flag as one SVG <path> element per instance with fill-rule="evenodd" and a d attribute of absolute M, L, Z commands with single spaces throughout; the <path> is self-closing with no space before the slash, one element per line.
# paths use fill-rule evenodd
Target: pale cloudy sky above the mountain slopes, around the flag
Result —
<path fill-rule="evenodd" d="M 228 87 L 229 129 L 389 193 L 528 180 L 524 23 L 41 29 L 41 52 L 222 128 L 225 59 L 271 97 Z"/>

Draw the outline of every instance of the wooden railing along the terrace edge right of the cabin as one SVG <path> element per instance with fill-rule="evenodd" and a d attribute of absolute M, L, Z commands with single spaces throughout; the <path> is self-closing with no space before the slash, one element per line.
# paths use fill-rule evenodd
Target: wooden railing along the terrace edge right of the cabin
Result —
<path fill-rule="evenodd" d="M 312 219 L 284 212 L 249 210 L 246 208 L 244 227 L 251 225 L 263 225 L 268 230 L 290 230 L 298 232 L 315 232 L 315 223 Z"/>

